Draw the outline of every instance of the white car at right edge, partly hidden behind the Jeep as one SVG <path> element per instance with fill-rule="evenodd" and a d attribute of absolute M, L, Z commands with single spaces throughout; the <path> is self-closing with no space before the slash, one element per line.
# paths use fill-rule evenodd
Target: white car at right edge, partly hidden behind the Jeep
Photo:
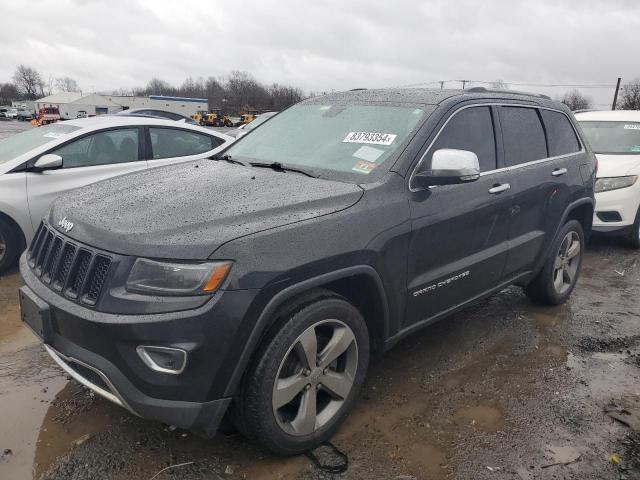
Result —
<path fill-rule="evenodd" d="M 591 111 L 576 119 L 598 157 L 593 229 L 640 248 L 640 111 Z"/>

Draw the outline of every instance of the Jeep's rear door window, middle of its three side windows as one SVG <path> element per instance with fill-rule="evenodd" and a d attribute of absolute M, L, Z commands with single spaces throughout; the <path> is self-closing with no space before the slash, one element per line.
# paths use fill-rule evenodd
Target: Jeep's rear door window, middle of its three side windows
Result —
<path fill-rule="evenodd" d="M 538 109 L 500 107 L 500 124 L 508 166 L 547 158 L 547 145 Z"/>

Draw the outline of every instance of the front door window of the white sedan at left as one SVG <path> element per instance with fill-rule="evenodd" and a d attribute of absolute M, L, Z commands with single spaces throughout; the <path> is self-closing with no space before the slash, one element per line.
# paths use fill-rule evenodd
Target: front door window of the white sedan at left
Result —
<path fill-rule="evenodd" d="M 63 168 L 91 167 L 138 160 L 138 129 L 122 128 L 88 135 L 52 151 Z"/>

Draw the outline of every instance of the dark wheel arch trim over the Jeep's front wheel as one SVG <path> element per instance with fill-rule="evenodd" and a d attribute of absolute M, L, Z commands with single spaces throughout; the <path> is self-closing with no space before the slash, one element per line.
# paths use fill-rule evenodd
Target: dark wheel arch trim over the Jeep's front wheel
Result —
<path fill-rule="evenodd" d="M 269 300 L 245 344 L 225 389 L 225 396 L 230 397 L 237 392 L 247 367 L 284 307 L 318 289 L 331 291 L 350 301 L 365 319 L 372 349 L 382 348 L 388 336 L 389 305 L 378 272 L 370 265 L 358 265 L 325 273 L 289 285 Z"/>

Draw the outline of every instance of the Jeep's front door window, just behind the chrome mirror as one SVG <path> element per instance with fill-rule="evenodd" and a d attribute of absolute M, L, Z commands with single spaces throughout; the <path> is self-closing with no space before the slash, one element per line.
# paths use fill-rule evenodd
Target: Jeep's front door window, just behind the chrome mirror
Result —
<path fill-rule="evenodd" d="M 465 108 L 451 117 L 431 147 L 431 155 L 442 148 L 473 152 L 481 172 L 495 170 L 496 140 L 490 108 Z"/>

